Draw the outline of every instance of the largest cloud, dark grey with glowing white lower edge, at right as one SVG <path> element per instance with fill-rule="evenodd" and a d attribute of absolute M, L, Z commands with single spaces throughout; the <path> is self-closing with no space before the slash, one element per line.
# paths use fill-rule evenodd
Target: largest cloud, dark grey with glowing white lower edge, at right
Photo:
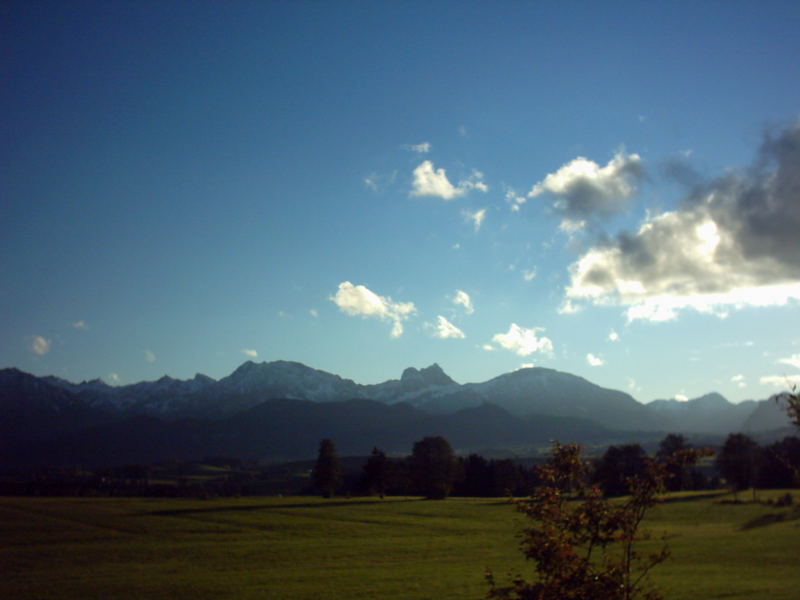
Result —
<path fill-rule="evenodd" d="M 743 174 L 590 248 L 570 266 L 566 300 L 624 306 L 629 321 L 800 300 L 799 186 L 800 125 L 767 138 Z"/>

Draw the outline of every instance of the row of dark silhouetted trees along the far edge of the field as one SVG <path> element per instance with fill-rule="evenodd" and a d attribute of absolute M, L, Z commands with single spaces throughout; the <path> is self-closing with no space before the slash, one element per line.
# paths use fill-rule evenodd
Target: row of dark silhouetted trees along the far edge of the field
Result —
<path fill-rule="evenodd" d="M 742 433 L 730 434 L 716 457 L 698 467 L 686 438 L 669 434 L 652 457 L 665 469 L 668 491 L 728 487 L 791 488 L 800 485 L 800 439 L 787 437 L 767 446 Z M 706 452 L 710 454 L 710 452 Z M 684 457 L 681 459 L 681 457 Z M 696 458 L 696 457 L 695 457 Z M 651 457 L 640 444 L 609 446 L 589 462 L 589 483 L 607 496 L 628 492 L 628 481 L 646 474 Z M 389 457 L 374 448 L 359 474 L 345 474 L 339 466 L 334 442 L 322 440 L 312 471 L 312 485 L 323 496 L 421 495 L 431 499 L 448 496 L 528 496 L 541 483 L 537 465 L 511 459 L 487 459 L 479 454 L 459 457 L 441 436 L 414 444 L 406 457 Z"/>

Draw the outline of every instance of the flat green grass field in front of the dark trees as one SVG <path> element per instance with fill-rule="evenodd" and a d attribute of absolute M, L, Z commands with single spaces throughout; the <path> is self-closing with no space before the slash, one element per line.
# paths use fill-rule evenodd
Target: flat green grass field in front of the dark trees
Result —
<path fill-rule="evenodd" d="M 800 511 L 730 498 L 652 513 L 673 554 L 653 580 L 672 600 L 796 600 Z M 0 598 L 477 599 L 486 567 L 530 571 L 520 524 L 493 499 L 0 498 Z"/>

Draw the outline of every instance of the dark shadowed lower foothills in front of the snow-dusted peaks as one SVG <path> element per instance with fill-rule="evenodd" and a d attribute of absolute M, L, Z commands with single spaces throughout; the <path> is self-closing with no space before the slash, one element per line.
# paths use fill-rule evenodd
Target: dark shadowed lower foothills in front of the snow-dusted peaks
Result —
<path fill-rule="evenodd" d="M 0 465 L 102 466 L 208 455 L 279 462 L 313 457 L 326 437 L 340 455 L 366 455 L 373 447 L 406 455 L 415 441 L 435 435 L 462 454 L 487 448 L 531 454 L 554 436 L 596 444 L 632 441 L 633 435 L 641 439 L 580 419 L 516 417 L 492 405 L 431 415 L 404 403 L 274 399 L 225 419 L 166 421 L 139 415 L 46 440 L 3 444 Z"/>

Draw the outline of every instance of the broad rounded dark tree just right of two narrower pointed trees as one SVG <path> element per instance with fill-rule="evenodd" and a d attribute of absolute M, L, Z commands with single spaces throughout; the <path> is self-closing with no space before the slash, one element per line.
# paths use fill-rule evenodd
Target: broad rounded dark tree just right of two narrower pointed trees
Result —
<path fill-rule="evenodd" d="M 414 444 L 409 458 L 411 480 L 426 498 L 447 498 L 458 474 L 458 459 L 443 437 L 426 437 Z"/>

